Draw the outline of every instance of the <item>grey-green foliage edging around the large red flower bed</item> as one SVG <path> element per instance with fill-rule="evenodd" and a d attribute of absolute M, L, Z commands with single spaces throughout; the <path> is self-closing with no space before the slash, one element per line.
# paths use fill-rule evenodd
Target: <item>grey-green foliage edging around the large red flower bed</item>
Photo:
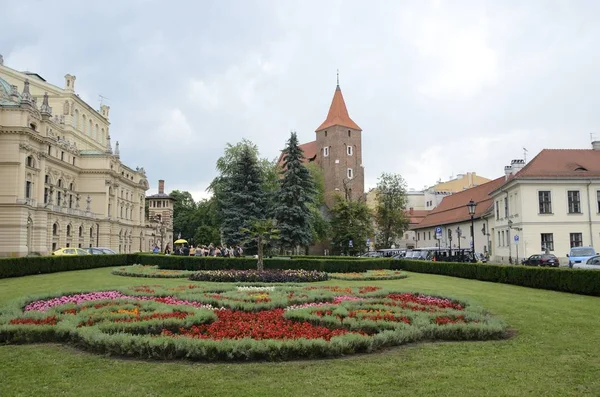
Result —
<path fill-rule="evenodd" d="M 120 290 L 123 294 L 130 291 Z M 386 291 L 389 294 L 389 291 Z M 398 292 L 400 294 L 401 292 Z M 65 295 L 65 294 L 63 294 Z M 57 295 L 45 295 L 35 299 L 49 299 Z M 139 295 L 147 296 L 147 295 Z M 435 296 L 426 297 L 437 299 Z M 355 353 L 367 353 L 384 347 L 398 346 L 405 343 L 427 340 L 490 340 L 502 339 L 508 336 L 506 325 L 499 319 L 490 317 L 483 308 L 468 301 L 460 303 L 468 308 L 474 316 L 483 316 L 485 321 L 479 323 L 450 323 L 447 325 L 430 324 L 421 328 L 408 327 L 402 324 L 380 330 L 372 336 L 357 333 L 334 336 L 329 342 L 323 339 L 295 339 L 295 340 L 211 340 L 193 339 L 189 337 L 155 336 L 147 334 L 122 334 L 122 329 L 135 330 L 136 325 L 131 323 L 108 323 L 107 332 L 100 327 L 73 328 L 73 321 L 58 322 L 56 325 L 8 325 L 10 318 L 23 316 L 22 308 L 31 303 L 34 298 L 19 299 L 6 307 L 0 307 L 0 343 L 40 343 L 60 342 L 75 345 L 85 350 L 114 356 L 134 357 L 142 359 L 173 360 L 185 359 L 192 361 L 281 361 L 293 359 L 314 359 L 326 357 L 339 357 Z M 444 297 L 442 299 L 451 299 Z M 344 301 L 346 299 L 342 299 Z M 99 301 L 101 302 L 101 301 Z M 145 301 L 148 302 L 148 301 Z M 454 301 L 457 302 L 457 301 Z M 150 302 L 151 305 L 160 306 L 162 302 Z M 353 305 L 361 305 L 361 301 L 352 301 Z M 331 304 L 330 304 L 331 305 Z M 70 307 L 70 306 L 67 306 Z M 67 307 L 61 307 L 64 310 Z M 296 321 L 309 321 L 315 325 L 333 324 L 335 318 L 315 319 L 313 306 L 306 308 L 290 309 L 284 316 Z M 59 310 L 58 308 L 56 310 Z M 201 312 L 203 308 L 192 309 L 189 306 L 174 305 L 172 310 Z M 40 324 L 46 321 L 51 324 L 54 312 L 40 312 L 32 318 L 38 318 Z M 442 315 L 451 318 L 453 310 L 443 312 Z M 461 312 L 462 313 L 462 312 Z M 201 313 L 199 314 L 200 316 Z M 419 314 L 421 315 L 421 314 Z M 176 316 L 176 314 L 175 314 Z M 160 317 L 160 316 L 158 316 Z M 311 318 L 312 317 L 312 318 Z M 415 317 L 416 318 L 416 317 Z M 368 320 L 365 320 L 368 322 Z M 451 321 L 451 320 L 450 320 Z M 442 321 L 448 323 L 445 318 Z M 177 320 L 173 318 L 157 318 L 146 320 L 142 324 L 145 329 L 169 327 L 177 329 Z M 368 324 L 367 324 L 368 325 Z M 124 327 L 124 328 L 123 328 Z M 110 331 L 110 332 L 108 332 Z"/>

